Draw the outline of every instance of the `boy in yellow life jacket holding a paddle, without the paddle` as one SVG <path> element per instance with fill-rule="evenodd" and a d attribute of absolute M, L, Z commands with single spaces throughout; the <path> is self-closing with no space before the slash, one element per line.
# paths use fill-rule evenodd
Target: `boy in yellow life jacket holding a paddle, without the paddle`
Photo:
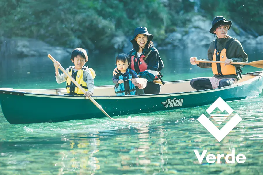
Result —
<path fill-rule="evenodd" d="M 94 92 L 94 78 L 95 72 L 92 68 L 84 66 L 88 61 L 87 52 L 83 48 L 75 48 L 71 53 L 71 61 L 75 66 L 70 66 L 66 69 L 66 72 L 72 76 L 80 86 L 86 91 L 85 96 L 89 97 Z M 81 95 L 84 94 L 66 74 L 59 74 L 58 67 L 60 63 L 56 61 L 54 67 L 56 70 L 56 81 L 62 83 L 67 81 L 67 93 L 68 95 Z"/>

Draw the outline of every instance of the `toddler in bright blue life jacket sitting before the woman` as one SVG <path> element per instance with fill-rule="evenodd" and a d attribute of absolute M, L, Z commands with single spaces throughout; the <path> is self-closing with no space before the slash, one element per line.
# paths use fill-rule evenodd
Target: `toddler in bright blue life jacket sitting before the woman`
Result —
<path fill-rule="evenodd" d="M 113 76 L 112 81 L 115 84 L 114 89 L 117 96 L 135 95 L 135 86 L 131 79 L 137 78 L 137 74 L 134 70 L 128 69 L 129 60 L 129 56 L 124 53 L 116 57 L 119 73 Z"/>

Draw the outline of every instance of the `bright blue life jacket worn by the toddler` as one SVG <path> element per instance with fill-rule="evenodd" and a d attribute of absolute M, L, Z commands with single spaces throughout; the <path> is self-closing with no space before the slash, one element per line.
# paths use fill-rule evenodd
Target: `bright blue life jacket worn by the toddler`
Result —
<path fill-rule="evenodd" d="M 119 85 L 118 87 L 116 87 L 116 85 L 114 87 L 115 93 L 117 96 L 135 95 L 135 86 L 131 82 L 131 79 L 132 79 L 131 69 L 127 69 L 127 72 L 129 73 L 129 76 L 124 78 L 122 75 L 120 75 L 119 79 L 123 79 L 123 81 L 129 79 L 129 81 L 118 84 Z M 129 82 L 129 89 L 124 89 L 124 83 L 127 83 L 127 82 Z"/>

